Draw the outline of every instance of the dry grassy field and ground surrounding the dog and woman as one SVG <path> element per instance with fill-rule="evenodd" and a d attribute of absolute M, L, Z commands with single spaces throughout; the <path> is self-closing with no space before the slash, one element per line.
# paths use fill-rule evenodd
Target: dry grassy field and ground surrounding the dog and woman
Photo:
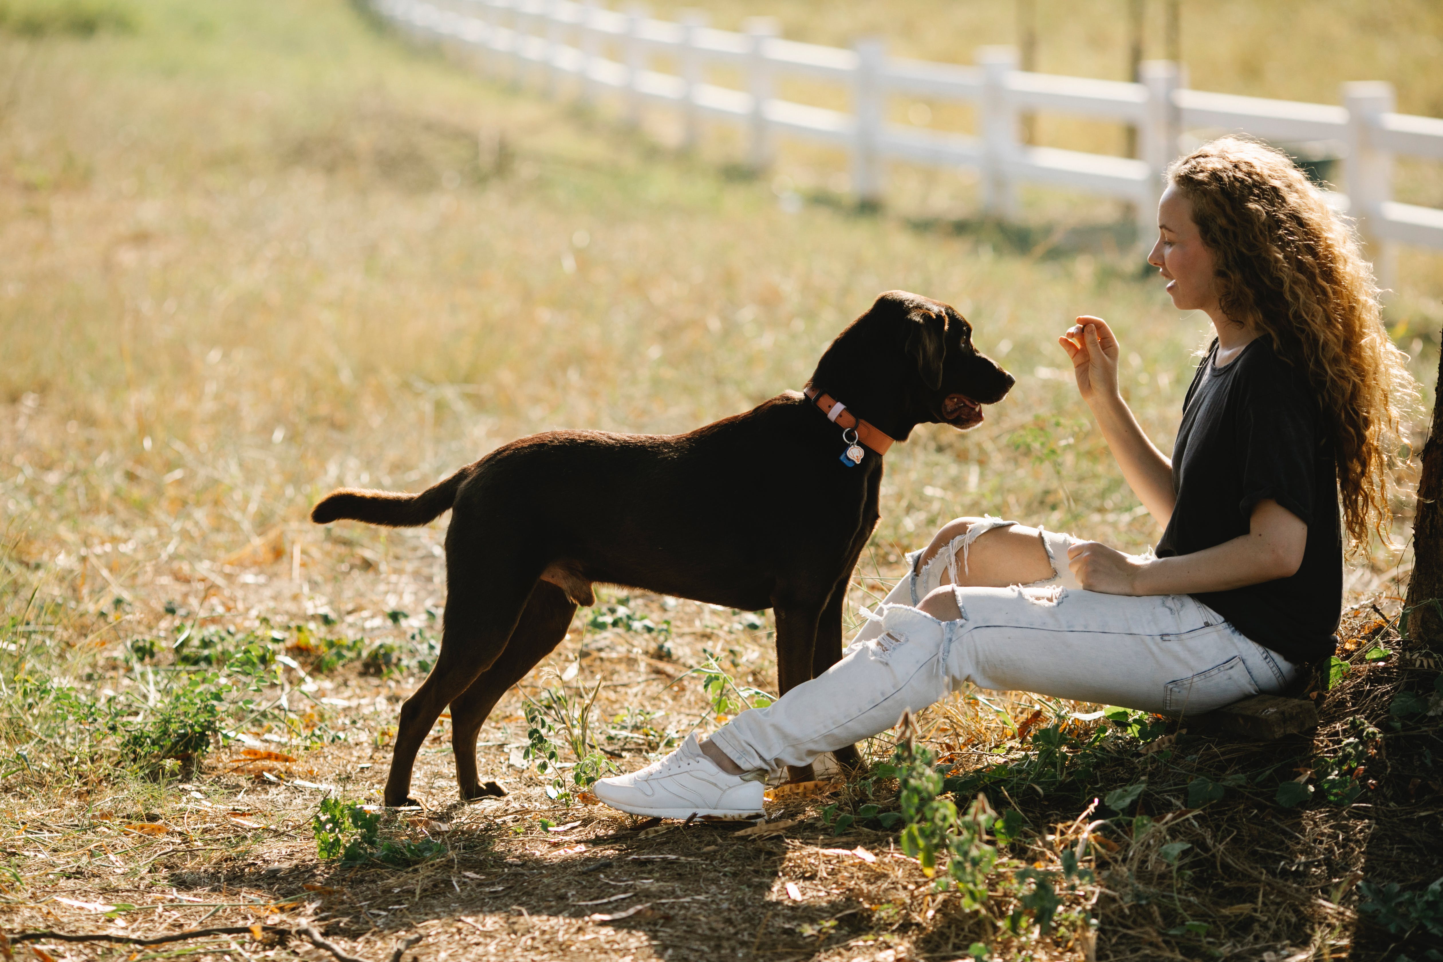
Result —
<path fill-rule="evenodd" d="M 1009 39 L 983 4 L 945 29 L 931 4 L 887 6 L 717 4 L 714 22 L 879 30 L 935 59 Z M 1120 3 L 1040 6 L 1043 69 L 1118 72 Z M 1183 4 L 1201 88 L 1333 100 L 1385 78 L 1443 115 L 1436 4 L 1218 9 Z M 919 428 L 887 456 L 853 610 L 957 515 L 1157 537 L 1053 343 L 1108 317 L 1166 446 L 1205 319 L 1170 309 L 1114 205 L 1029 193 L 1000 226 L 965 177 L 898 169 L 861 215 L 837 157 L 785 149 L 753 179 L 726 136 L 696 156 L 667 136 L 478 78 L 342 0 L 0 0 L 0 955 L 335 958 L 294 936 L 310 923 L 368 962 L 417 935 L 405 958 L 427 962 L 1433 958 L 1443 909 L 1364 907 L 1367 886 L 1431 883 L 1443 831 L 1437 665 L 1398 639 L 1410 555 L 1381 547 L 1349 571 L 1312 738 L 1162 741 L 1147 718 L 1020 692 L 925 712 L 960 806 L 981 790 L 1006 813 L 980 910 L 876 816 L 905 789 L 885 769 L 778 789 L 746 834 L 587 805 L 576 772 L 638 767 L 775 689 L 766 613 L 646 593 L 603 591 L 498 705 L 482 777 L 506 796 L 457 803 L 443 718 L 423 811 L 352 808 L 378 800 L 434 658 L 444 519 L 320 529 L 319 495 L 418 489 L 551 427 L 733 414 L 799 387 L 882 290 L 958 306 L 1019 387 L 980 428 Z M 1443 203 L 1440 183 L 1405 169 L 1400 195 Z M 1388 323 L 1430 379 L 1443 258 L 1404 252 Z M 564 767 L 538 770 L 553 750 Z M 892 737 L 867 753 L 887 762 Z M 1317 790 L 1286 806 L 1297 777 Z M 126 942 L 189 929 L 228 932 Z M 19 940 L 42 930 L 113 940 Z"/>

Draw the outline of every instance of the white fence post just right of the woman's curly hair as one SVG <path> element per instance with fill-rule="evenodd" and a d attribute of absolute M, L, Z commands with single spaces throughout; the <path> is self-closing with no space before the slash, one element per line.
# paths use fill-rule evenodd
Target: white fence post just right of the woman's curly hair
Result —
<path fill-rule="evenodd" d="M 1377 222 L 1382 205 L 1392 199 L 1392 154 L 1372 146 L 1372 128 L 1381 114 L 1392 112 L 1392 84 L 1343 84 L 1343 107 L 1348 108 L 1348 213 L 1372 258 L 1378 287 L 1391 290 L 1397 284 L 1397 248 L 1380 237 Z"/>

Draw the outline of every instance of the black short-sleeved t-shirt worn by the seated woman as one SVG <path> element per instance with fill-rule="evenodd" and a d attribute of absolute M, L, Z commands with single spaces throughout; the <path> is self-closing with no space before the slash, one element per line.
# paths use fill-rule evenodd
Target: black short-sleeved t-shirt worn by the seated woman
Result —
<path fill-rule="evenodd" d="M 1290 662 L 1333 652 L 1342 613 L 1343 558 L 1338 469 L 1317 400 L 1302 371 L 1267 337 L 1232 363 L 1208 356 L 1183 401 L 1173 447 L 1176 506 L 1157 557 L 1192 554 L 1248 534 L 1253 508 L 1267 498 L 1307 525 L 1296 574 L 1193 597 L 1250 639 Z"/>

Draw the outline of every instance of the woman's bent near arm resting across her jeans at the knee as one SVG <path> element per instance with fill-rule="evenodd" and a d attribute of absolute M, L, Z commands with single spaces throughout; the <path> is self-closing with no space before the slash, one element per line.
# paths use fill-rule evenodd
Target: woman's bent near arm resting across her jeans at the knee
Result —
<path fill-rule="evenodd" d="M 1303 564 L 1307 525 L 1271 498 L 1260 500 L 1248 534 L 1175 558 L 1141 561 L 1095 541 L 1068 548 L 1068 567 L 1088 591 L 1195 594 L 1286 578 Z"/>

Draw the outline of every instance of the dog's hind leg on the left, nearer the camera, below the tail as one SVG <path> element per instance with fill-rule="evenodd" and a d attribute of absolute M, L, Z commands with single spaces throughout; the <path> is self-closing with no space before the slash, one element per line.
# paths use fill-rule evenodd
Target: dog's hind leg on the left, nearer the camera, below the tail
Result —
<path fill-rule="evenodd" d="M 385 779 L 387 805 L 414 805 L 410 790 L 416 753 L 442 710 L 505 650 L 535 584 L 534 577 L 521 581 L 512 571 L 488 571 L 485 577 L 472 571 L 465 578 L 450 571 L 447 575 L 442 650 L 431 674 L 401 705 L 391 773 Z"/>

